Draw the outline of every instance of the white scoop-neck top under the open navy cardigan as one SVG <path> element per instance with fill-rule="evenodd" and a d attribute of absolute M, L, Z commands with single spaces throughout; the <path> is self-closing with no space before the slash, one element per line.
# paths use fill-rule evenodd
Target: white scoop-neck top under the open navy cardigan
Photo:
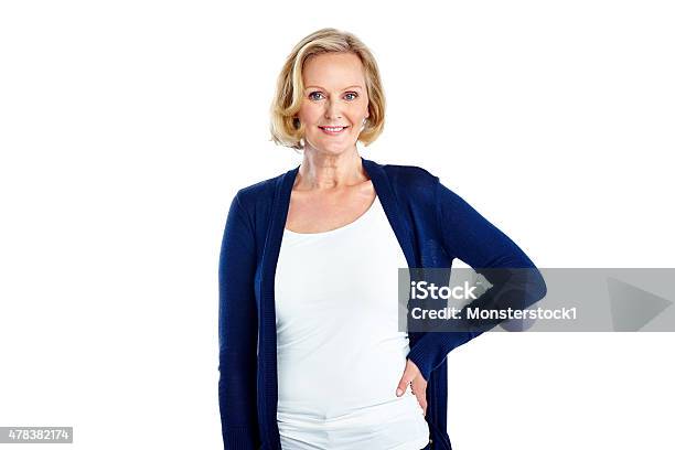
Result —
<path fill-rule="evenodd" d="M 429 428 L 410 389 L 396 397 L 406 258 L 379 199 L 343 227 L 285 229 L 275 277 L 277 422 L 283 450 L 419 450 Z"/>

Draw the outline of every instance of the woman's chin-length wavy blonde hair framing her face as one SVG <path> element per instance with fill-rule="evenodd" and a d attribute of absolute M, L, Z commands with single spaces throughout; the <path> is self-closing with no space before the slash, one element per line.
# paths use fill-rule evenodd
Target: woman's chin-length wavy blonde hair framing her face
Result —
<path fill-rule="evenodd" d="M 368 146 L 382 133 L 386 104 L 375 57 L 354 34 L 334 28 L 324 28 L 303 38 L 288 55 L 279 73 L 277 90 L 270 108 L 270 140 L 275 143 L 293 149 L 303 148 L 301 138 L 304 137 L 304 125 L 293 118 L 302 103 L 304 89 L 302 68 L 310 56 L 331 52 L 355 54 L 365 71 L 368 118 L 358 135 L 358 140 Z"/>

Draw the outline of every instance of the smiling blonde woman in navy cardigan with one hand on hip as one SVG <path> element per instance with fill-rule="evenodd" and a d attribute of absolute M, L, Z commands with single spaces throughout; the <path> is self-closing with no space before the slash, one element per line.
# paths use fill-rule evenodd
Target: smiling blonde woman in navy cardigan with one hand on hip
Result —
<path fill-rule="evenodd" d="M 237 192 L 221 248 L 226 449 L 450 449 L 446 356 L 480 333 L 399 332 L 397 269 L 536 270 L 437 176 L 358 154 L 384 114 L 353 34 L 319 30 L 288 56 L 271 133 L 302 162 Z"/>

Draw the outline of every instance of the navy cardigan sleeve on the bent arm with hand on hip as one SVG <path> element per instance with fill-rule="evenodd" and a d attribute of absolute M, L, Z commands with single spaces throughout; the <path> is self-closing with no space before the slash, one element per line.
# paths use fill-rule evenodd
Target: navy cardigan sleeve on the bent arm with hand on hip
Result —
<path fill-rule="evenodd" d="M 440 183 L 438 178 L 435 190 L 437 229 L 444 251 L 451 259 L 459 258 L 471 266 L 492 285 L 462 309 L 464 318 L 467 308 L 524 309 L 544 298 L 544 278 L 534 262 L 508 236 Z M 482 322 L 480 328 L 471 328 L 469 322 L 464 322 L 462 331 L 427 332 L 417 341 L 407 357 L 428 381 L 430 373 L 442 364 L 448 353 L 497 323 L 499 321 L 489 323 L 485 328 L 486 322 Z"/>

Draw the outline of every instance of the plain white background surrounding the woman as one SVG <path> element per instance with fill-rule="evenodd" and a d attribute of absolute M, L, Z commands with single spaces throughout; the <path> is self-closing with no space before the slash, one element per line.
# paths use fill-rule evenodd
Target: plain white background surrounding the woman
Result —
<path fill-rule="evenodd" d="M 645 0 L 3 1 L 0 426 L 222 448 L 225 215 L 300 163 L 268 108 L 323 26 L 382 69 L 362 156 L 439 175 L 539 267 L 672 267 L 673 23 Z M 483 335 L 449 356 L 453 448 L 673 449 L 673 344 Z"/>

